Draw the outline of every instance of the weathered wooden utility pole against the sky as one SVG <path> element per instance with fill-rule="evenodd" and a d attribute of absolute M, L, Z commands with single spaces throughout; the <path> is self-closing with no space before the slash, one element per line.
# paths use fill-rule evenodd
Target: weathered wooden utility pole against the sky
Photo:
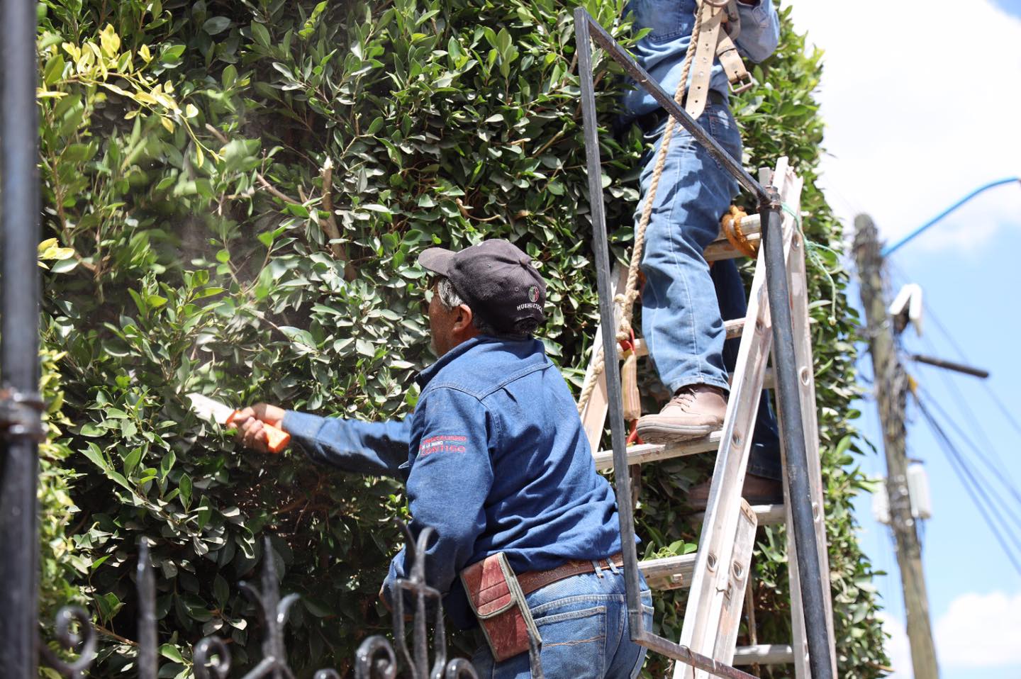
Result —
<path fill-rule="evenodd" d="M 886 312 L 883 294 L 883 258 L 876 226 L 867 214 L 855 217 L 855 256 L 868 321 L 869 350 L 875 374 L 876 401 L 883 428 L 886 452 L 886 492 L 889 496 L 890 528 L 896 540 L 896 561 L 901 567 L 904 603 L 908 612 L 908 640 L 915 679 L 937 679 L 936 651 L 929 623 L 929 598 L 922 572 L 922 545 L 918 527 L 911 516 L 908 495 L 908 456 L 905 451 L 905 406 L 908 377 L 897 358 L 893 325 Z"/>

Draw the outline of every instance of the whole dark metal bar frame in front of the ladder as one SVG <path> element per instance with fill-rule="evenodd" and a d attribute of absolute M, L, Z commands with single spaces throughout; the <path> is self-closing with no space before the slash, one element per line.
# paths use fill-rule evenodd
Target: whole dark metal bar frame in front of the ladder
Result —
<path fill-rule="evenodd" d="M 790 486 L 789 502 L 795 533 L 798 576 L 803 592 L 806 627 L 812 676 L 830 679 L 833 676 L 830 649 L 826 634 L 825 605 L 822 574 L 816 554 L 819 549 L 812 521 L 812 497 L 808 479 L 808 454 L 805 428 L 798 402 L 796 361 L 790 313 L 789 285 L 783 256 L 780 196 L 772 187 L 764 187 L 741 164 L 732 158 L 704 130 L 681 108 L 652 78 L 639 66 L 614 38 L 583 8 L 575 9 L 575 39 L 578 49 L 578 75 L 581 81 L 581 108 L 584 119 L 585 152 L 588 165 L 589 201 L 595 250 L 596 280 L 599 289 L 599 318 L 603 328 L 615 324 L 610 290 L 610 249 L 606 242 L 605 212 L 602 200 L 602 172 L 599 160 L 598 124 L 595 113 L 595 92 L 592 78 L 591 41 L 605 50 L 631 78 L 648 92 L 710 155 L 759 201 L 764 247 L 766 250 L 766 278 L 770 314 L 773 323 L 774 361 L 776 363 L 777 393 L 785 450 L 787 451 L 787 481 Z M 634 511 L 627 469 L 627 448 L 623 402 L 620 387 L 620 366 L 611 357 L 617 355 L 613 333 L 603 333 L 606 391 L 610 399 L 610 432 L 614 450 L 614 469 L 617 500 L 621 521 L 621 541 L 624 554 L 624 572 L 627 586 L 628 623 L 631 638 L 641 645 L 661 652 L 716 676 L 732 679 L 746 678 L 745 674 L 711 658 L 691 651 L 645 629 L 642 620 L 638 584 L 638 555 L 634 541 Z"/>

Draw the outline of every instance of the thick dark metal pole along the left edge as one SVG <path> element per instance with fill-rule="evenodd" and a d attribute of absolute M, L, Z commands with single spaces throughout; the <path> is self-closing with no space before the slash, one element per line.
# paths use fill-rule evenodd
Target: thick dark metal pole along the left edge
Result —
<path fill-rule="evenodd" d="M 36 115 L 36 3 L 0 0 L 0 667 L 35 679 L 36 483 L 40 430 L 39 179 Z"/>

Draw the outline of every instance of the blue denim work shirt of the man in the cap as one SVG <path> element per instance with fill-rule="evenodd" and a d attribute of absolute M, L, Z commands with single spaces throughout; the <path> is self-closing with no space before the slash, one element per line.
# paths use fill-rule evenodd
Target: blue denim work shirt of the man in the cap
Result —
<path fill-rule="evenodd" d="M 289 410 L 283 427 L 314 460 L 403 477 L 411 534 L 432 526 L 429 584 L 455 625 L 475 618 L 457 575 L 502 551 L 518 573 L 621 550 L 617 500 L 595 464 L 564 378 L 539 340 L 476 337 L 422 372 L 403 421 L 368 423 Z M 401 549 L 384 594 L 408 575 Z"/>

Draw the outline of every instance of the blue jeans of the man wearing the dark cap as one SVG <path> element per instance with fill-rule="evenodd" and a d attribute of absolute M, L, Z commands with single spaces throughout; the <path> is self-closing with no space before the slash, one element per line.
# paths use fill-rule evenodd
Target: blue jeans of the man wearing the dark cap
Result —
<path fill-rule="evenodd" d="M 615 567 L 616 569 L 616 567 Z M 641 582 L 646 629 L 652 627 L 652 595 Z M 542 637 L 540 659 L 546 679 L 633 679 L 645 648 L 628 634 L 624 576 L 600 569 L 546 585 L 525 599 Z M 480 635 L 481 636 L 481 635 Z M 528 653 L 493 663 L 489 646 L 475 651 L 479 679 L 529 679 Z"/>

